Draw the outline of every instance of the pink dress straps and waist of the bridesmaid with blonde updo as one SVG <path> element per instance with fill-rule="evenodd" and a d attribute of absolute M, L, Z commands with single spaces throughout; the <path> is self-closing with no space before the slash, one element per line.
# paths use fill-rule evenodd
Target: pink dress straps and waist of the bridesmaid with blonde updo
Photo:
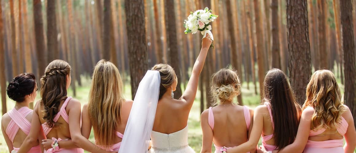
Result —
<path fill-rule="evenodd" d="M 244 117 L 245 117 L 245 122 L 246 122 L 246 127 L 247 131 L 250 128 L 251 125 L 251 116 L 250 116 L 250 110 L 248 109 L 247 106 L 244 106 Z M 209 107 L 209 113 L 208 113 L 208 124 L 211 127 L 211 130 L 214 129 L 214 114 L 213 114 L 213 108 Z M 222 146 L 215 146 L 215 153 L 219 153 L 220 149 L 223 148 Z M 227 149 L 230 149 L 232 147 L 228 147 Z M 250 153 L 250 152 L 248 152 Z"/>

